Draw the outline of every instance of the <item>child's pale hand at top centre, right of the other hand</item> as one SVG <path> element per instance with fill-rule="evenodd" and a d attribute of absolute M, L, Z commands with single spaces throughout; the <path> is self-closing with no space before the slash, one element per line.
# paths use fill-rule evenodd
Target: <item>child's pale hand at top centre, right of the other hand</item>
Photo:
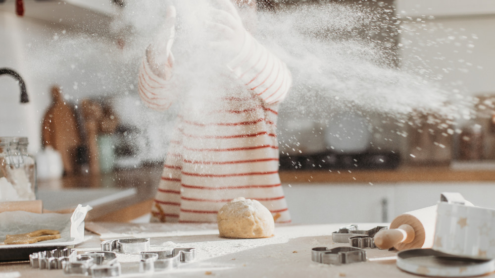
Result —
<path fill-rule="evenodd" d="M 233 58 L 244 45 L 244 29 L 241 17 L 230 0 L 213 0 L 218 8 L 210 11 L 211 21 L 207 21 L 208 46 L 219 56 Z"/>

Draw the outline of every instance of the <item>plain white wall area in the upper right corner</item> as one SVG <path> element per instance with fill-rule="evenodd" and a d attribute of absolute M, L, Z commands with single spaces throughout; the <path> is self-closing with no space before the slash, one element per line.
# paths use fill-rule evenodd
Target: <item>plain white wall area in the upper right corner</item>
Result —
<path fill-rule="evenodd" d="M 397 0 L 396 5 L 403 20 L 403 66 L 430 69 L 450 90 L 495 94 L 493 0 Z"/>

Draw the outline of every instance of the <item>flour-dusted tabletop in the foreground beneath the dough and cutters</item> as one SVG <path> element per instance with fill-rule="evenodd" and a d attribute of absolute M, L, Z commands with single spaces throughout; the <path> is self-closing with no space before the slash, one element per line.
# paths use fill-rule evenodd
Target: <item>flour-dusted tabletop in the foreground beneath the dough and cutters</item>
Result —
<path fill-rule="evenodd" d="M 396 267 L 396 251 L 364 249 L 366 262 L 341 266 L 313 262 L 311 249 L 314 247 L 349 246 L 347 243 L 333 243 L 331 235 L 346 224 L 280 225 L 276 226 L 275 235 L 270 238 L 227 239 L 219 237 L 216 224 L 88 222 L 86 227 L 93 232 L 87 231 L 88 240 L 77 245 L 76 249 L 79 253 L 97 251 L 101 239 L 125 237 L 150 237 L 153 251 L 177 247 L 197 249 L 195 261 L 181 264 L 175 270 L 154 273 L 152 277 L 419 277 Z M 377 225 L 384 223 L 362 223 L 359 228 L 369 229 Z M 144 277 L 130 274 L 133 266 L 137 266 L 139 256 L 118 254 L 117 258 L 123 265 L 121 277 Z M 0 264 L 0 277 L 68 276 L 62 270 L 33 269 L 29 263 L 21 262 Z M 495 274 L 485 277 L 495 277 Z"/>

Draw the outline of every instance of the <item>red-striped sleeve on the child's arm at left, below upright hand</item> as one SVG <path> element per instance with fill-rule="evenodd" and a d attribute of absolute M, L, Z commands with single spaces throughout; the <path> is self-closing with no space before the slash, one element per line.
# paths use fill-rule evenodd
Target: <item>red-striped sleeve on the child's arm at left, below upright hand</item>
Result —
<path fill-rule="evenodd" d="M 170 67 L 168 64 L 165 66 Z M 168 109 L 177 98 L 176 83 L 173 76 L 165 80 L 156 75 L 151 70 L 146 56 L 143 58 L 139 67 L 138 93 L 146 106 L 158 111 Z"/>

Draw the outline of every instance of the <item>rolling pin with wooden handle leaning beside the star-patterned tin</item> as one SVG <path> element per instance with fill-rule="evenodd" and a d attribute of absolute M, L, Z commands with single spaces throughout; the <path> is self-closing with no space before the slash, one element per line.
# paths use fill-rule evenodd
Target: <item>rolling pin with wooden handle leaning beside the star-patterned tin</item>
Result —
<path fill-rule="evenodd" d="M 432 247 L 436 218 L 436 205 L 403 213 L 390 223 L 389 229 L 375 234 L 375 245 L 380 249 L 395 247 L 397 250 Z"/>

